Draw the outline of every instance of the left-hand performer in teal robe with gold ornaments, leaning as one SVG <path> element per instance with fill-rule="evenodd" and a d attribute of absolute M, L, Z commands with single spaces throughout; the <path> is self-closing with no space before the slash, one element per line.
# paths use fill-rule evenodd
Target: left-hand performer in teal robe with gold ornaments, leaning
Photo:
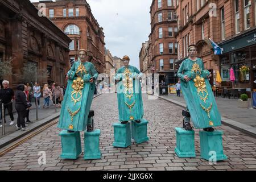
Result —
<path fill-rule="evenodd" d="M 67 75 L 68 86 L 58 127 L 69 132 L 84 131 L 86 126 L 89 126 L 88 115 L 98 73 L 94 65 L 87 60 L 89 60 L 88 52 L 80 49 L 79 61 L 73 63 Z"/>

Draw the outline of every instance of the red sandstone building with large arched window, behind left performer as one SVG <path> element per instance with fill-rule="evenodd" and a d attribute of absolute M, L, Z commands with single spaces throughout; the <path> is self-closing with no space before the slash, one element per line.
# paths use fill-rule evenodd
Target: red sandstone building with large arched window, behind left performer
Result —
<path fill-rule="evenodd" d="M 77 61 L 79 49 L 92 52 L 92 63 L 98 73 L 104 73 L 105 51 L 104 32 L 94 18 L 89 4 L 85 0 L 40 1 L 46 5 L 46 16 L 71 38 L 69 53 L 71 61 Z M 34 3 L 38 9 L 42 6 Z"/>

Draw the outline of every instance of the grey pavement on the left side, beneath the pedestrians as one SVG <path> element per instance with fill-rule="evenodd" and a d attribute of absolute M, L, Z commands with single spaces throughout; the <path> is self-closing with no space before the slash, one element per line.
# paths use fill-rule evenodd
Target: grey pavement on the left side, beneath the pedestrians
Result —
<path fill-rule="evenodd" d="M 100 96 L 101 94 L 98 94 L 97 96 L 94 96 L 93 98 L 96 98 Z M 13 107 L 14 109 L 14 107 Z M 7 146 L 11 142 L 14 142 L 15 140 L 24 137 L 25 135 L 31 133 L 32 131 L 35 131 L 39 127 L 42 127 L 46 125 L 47 123 L 55 120 L 56 118 L 59 118 L 60 116 L 60 109 L 57 108 L 57 111 L 55 111 L 55 106 L 50 101 L 49 108 L 43 109 L 43 98 L 40 99 L 40 109 L 38 109 L 38 120 L 36 120 L 36 108 L 35 108 L 35 102 L 32 102 L 32 109 L 30 110 L 30 121 L 32 123 L 29 123 L 28 126 L 26 126 L 26 131 L 16 131 L 16 123 L 17 123 L 17 117 L 18 114 L 14 112 L 14 125 L 9 125 L 10 123 L 10 117 L 9 115 L 6 115 L 6 124 L 5 124 L 5 135 L 2 135 L 2 127 L 0 127 L 0 149 Z M 15 109 L 14 109 L 15 110 Z M 7 110 L 6 110 L 7 112 Z M 25 119 L 26 121 L 26 119 Z"/>

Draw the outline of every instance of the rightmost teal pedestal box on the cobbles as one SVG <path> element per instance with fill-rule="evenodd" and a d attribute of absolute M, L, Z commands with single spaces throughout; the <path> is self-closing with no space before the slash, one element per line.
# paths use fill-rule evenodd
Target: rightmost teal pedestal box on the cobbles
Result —
<path fill-rule="evenodd" d="M 223 152 L 222 146 L 223 131 L 216 130 L 213 132 L 200 131 L 200 150 L 201 158 L 205 160 L 212 159 L 212 152 L 216 152 L 216 161 L 228 159 Z M 210 155 L 209 155 L 210 152 Z"/>

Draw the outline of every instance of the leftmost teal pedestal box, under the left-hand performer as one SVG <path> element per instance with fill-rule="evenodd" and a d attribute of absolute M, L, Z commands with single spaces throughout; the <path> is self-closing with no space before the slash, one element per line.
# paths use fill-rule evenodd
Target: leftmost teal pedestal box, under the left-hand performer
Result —
<path fill-rule="evenodd" d="M 62 153 L 61 159 L 77 159 L 82 152 L 80 132 L 68 133 L 63 130 L 59 133 L 61 137 Z"/>

